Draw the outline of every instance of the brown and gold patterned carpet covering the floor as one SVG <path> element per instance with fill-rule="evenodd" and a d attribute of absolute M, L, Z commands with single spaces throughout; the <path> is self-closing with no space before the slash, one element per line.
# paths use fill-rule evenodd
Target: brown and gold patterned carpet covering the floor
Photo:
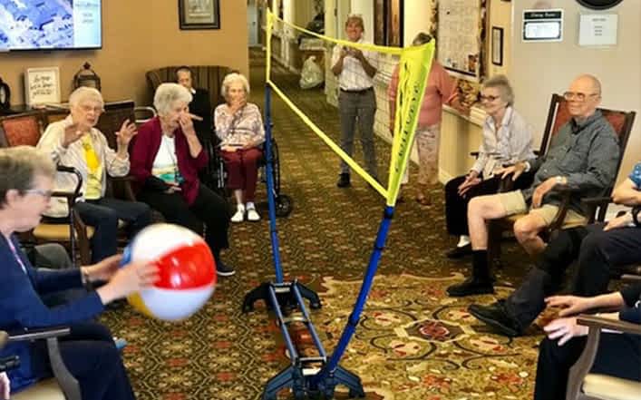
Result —
<path fill-rule="evenodd" d="M 260 64 L 259 58 L 252 63 L 251 81 L 252 99 L 262 106 Z M 335 137 L 336 111 L 321 90 L 297 90 L 296 76 L 278 68 L 275 73 L 296 104 L 319 115 L 321 128 Z M 352 188 L 336 189 L 338 159 L 332 151 L 283 102 L 273 102 L 273 115 L 282 191 L 295 202 L 293 213 L 278 220 L 283 266 L 319 292 L 324 307 L 313 312 L 313 319 L 331 352 L 360 287 L 384 200 L 358 178 Z M 389 147 L 377 141 L 376 150 L 380 171 L 386 171 Z M 360 153 L 356 159 L 361 160 Z M 415 181 L 415 169 L 411 172 Z M 494 297 L 444 295 L 444 288 L 467 273 L 469 260 L 443 257 L 454 241 L 444 229 L 442 187 L 433 188 L 432 195 L 431 207 L 409 196 L 398 206 L 379 275 L 341 364 L 361 376 L 368 399 L 531 398 L 540 330 L 518 339 L 493 335 L 466 307 Z M 264 188 L 258 197 L 265 199 Z M 274 277 L 267 220 L 234 225 L 231 238 L 225 258 L 238 274 L 221 279 L 214 297 L 194 317 L 163 323 L 130 307 L 102 317 L 130 343 L 124 359 L 139 399 L 257 399 L 267 379 L 287 366 L 278 328 L 264 307 L 247 315 L 240 311 L 248 290 Z M 518 283 L 530 264 L 516 246 L 504 251 L 507 267 L 497 271 L 497 297 Z"/>

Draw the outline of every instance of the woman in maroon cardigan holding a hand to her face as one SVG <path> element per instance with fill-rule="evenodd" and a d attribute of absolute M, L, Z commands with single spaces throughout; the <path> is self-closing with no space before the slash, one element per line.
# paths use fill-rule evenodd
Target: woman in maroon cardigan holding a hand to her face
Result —
<path fill-rule="evenodd" d="M 189 113 L 189 102 L 191 93 L 180 84 L 160 84 L 153 98 L 158 116 L 139 129 L 131 151 L 131 175 L 139 199 L 159 210 L 168 222 L 199 234 L 204 223 L 217 272 L 229 276 L 236 271 L 220 259 L 220 249 L 229 246 L 229 207 L 200 184 L 198 172 L 209 158 L 194 130 L 192 119 L 199 117 Z"/>

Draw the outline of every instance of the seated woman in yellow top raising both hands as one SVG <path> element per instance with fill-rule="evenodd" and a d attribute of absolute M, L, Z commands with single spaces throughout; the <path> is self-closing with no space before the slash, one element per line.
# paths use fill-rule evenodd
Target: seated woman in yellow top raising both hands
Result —
<path fill-rule="evenodd" d="M 69 96 L 71 114 L 63 121 L 53 122 L 38 142 L 38 149 L 48 151 L 53 161 L 73 167 L 83 176 L 83 197 L 75 210 L 87 224 L 95 228 L 92 237 L 92 262 L 116 254 L 118 220 L 128 222 L 130 236 L 151 222 L 151 210 L 143 203 L 105 198 L 106 175 L 121 177 L 129 172 L 128 146 L 136 134 L 136 126 L 129 120 L 122 122 L 116 133 L 117 151 L 107 144 L 102 132 L 94 126 L 102 113 L 102 95 L 93 88 L 80 87 Z M 55 189 L 73 191 L 75 177 L 58 173 Z M 53 198 L 46 211 L 50 217 L 68 214 L 67 202 Z"/>

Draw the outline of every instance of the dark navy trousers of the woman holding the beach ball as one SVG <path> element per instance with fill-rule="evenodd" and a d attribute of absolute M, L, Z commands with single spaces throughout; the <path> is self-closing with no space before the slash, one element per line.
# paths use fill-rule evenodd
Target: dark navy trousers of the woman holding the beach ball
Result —
<path fill-rule="evenodd" d="M 80 384 L 83 400 L 133 400 L 129 376 L 107 327 L 95 322 L 75 324 L 60 338 L 64 364 Z M 53 376 L 46 343 L 32 346 L 34 376 Z"/>

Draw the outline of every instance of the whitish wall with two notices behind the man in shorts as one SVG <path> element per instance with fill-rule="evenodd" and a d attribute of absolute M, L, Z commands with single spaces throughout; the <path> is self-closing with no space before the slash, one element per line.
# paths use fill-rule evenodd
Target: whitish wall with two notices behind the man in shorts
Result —
<path fill-rule="evenodd" d="M 517 96 L 516 108 L 537 132 L 538 144 L 549 105 L 550 93 L 562 93 L 579 73 L 592 73 L 603 87 L 602 106 L 641 112 L 641 1 L 625 1 L 605 12 L 618 15 L 618 44 L 607 48 L 578 45 L 580 14 L 596 13 L 568 0 L 549 0 L 553 8 L 565 10 L 563 41 L 523 43 L 520 38 L 522 11 L 535 0 L 512 2 L 513 30 L 510 81 Z M 641 118 L 628 141 L 619 180 L 639 160 Z"/>

